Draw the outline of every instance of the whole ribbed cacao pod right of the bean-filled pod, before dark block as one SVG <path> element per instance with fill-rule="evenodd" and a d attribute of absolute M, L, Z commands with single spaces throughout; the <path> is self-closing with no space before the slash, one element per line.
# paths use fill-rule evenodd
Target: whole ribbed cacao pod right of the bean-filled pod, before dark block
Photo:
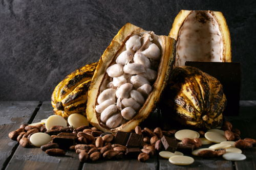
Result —
<path fill-rule="evenodd" d="M 160 103 L 172 123 L 211 129 L 222 121 L 227 105 L 222 84 L 196 67 L 175 67 Z"/>

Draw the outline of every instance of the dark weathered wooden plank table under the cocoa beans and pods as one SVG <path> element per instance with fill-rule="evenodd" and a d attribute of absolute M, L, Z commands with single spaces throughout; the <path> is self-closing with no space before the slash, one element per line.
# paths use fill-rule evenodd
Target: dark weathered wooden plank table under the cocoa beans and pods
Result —
<path fill-rule="evenodd" d="M 241 139 L 256 139 L 256 101 L 240 101 L 240 115 L 225 117 L 233 127 L 241 131 Z M 189 155 L 195 162 L 187 166 L 178 166 L 156 155 L 145 163 L 138 160 L 100 160 L 81 163 L 75 152 L 67 151 L 66 156 L 49 156 L 39 148 L 23 148 L 17 141 L 8 137 L 9 132 L 19 128 L 20 124 L 40 122 L 53 115 L 51 102 L 0 102 L 0 167 L 1 169 L 256 169 L 256 148 L 243 151 L 244 161 L 227 161 L 220 158 L 202 159 Z M 152 128 L 159 124 L 159 114 L 152 114 L 147 125 Z M 150 123 L 150 124 L 148 124 Z M 151 128 L 149 127 L 149 128 Z M 208 148 L 203 145 L 203 148 Z"/>

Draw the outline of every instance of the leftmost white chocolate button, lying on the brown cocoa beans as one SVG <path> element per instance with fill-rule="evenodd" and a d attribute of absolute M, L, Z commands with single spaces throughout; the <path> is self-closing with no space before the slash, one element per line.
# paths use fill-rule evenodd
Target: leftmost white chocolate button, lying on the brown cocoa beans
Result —
<path fill-rule="evenodd" d="M 52 140 L 52 137 L 46 133 L 38 132 L 31 135 L 29 140 L 35 147 L 41 147 L 42 145 L 49 143 Z"/>

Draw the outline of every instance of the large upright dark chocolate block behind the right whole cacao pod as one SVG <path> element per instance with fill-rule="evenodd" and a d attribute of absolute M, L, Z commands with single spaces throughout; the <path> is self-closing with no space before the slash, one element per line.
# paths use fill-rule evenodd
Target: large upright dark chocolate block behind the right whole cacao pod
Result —
<path fill-rule="evenodd" d="M 186 61 L 186 66 L 197 67 L 220 81 L 227 98 L 224 116 L 239 115 L 240 89 L 242 80 L 241 63 Z"/>

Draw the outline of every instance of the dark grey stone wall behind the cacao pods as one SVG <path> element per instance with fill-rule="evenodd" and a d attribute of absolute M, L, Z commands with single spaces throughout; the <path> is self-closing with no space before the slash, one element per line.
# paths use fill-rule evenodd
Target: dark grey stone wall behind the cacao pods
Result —
<path fill-rule="evenodd" d="M 99 60 L 125 23 L 168 35 L 180 10 L 221 11 L 232 61 L 242 63 L 241 100 L 256 100 L 256 0 L 1 0 L 0 100 L 50 101 L 75 69 Z"/>

